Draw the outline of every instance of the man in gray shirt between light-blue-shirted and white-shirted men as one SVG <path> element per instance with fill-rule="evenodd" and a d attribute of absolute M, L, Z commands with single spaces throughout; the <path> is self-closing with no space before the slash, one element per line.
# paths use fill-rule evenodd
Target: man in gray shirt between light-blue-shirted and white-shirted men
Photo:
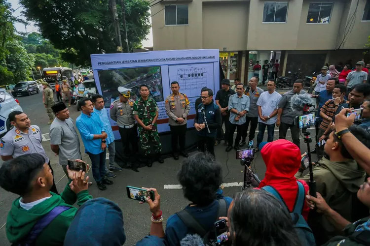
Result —
<path fill-rule="evenodd" d="M 250 105 L 249 105 L 249 112 L 247 113 L 247 117 L 246 117 L 246 122 L 243 126 L 242 142 L 240 143 L 240 147 L 245 145 L 249 123 L 251 123 L 251 129 L 249 130 L 249 141 L 252 141 L 255 138 L 255 132 L 257 129 L 258 117 L 259 117 L 257 101 L 258 101 L 259 95 L 263 92 L 262 89 L 257 87 L 258 82 L 259 82 L 258 77 L 252 77 L 249 81 L 249 88 L 247 88 L 248 91 L 244 92 L 250 99 Z"/>

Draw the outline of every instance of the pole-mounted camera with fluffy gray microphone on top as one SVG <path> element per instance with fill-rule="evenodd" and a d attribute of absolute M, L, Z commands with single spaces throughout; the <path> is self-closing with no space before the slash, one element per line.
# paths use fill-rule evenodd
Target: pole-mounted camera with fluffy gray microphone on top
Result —
<path fill-rule="evenodd" d="M 313 180 L 311 165 L 312 159 L 310 143 L 312 143 L 312 139 L 310 138 L 311 132 L 307 131 L 307 128 L 316 124 L 316 117 L 315 113 L 309 112 L 310 107 L 314 107 L 314 104 L 312 103 L 312 97 L 309 94 L 296 94 L 292 96 L 291 109 L 296 112 L 303 112 L 303 115 L 296 117 L 296 126 L 302 130 L 304 135 L 303 142 L 307 144 L 308 168 L 310 170 L 310 180 L 308 185 L 310 188 L 310 195 L 316 197 L 316 183 Z"/>

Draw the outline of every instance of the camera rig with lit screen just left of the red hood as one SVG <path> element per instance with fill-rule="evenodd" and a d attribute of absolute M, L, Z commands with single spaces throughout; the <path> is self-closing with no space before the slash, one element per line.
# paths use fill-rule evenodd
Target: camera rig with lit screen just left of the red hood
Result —
<path fill-rule="evenodd" d="M 241 189 L 249 187 L 258 187 L 260 180 L 250 169 L 251 163 L 255 158 L 255 149 L 253 149 L 253 140 L 249 142 L 248 149 L 236 151 L 236 159 L 240 159 L 240 164 L 244 166 L 244 182 Z"/>

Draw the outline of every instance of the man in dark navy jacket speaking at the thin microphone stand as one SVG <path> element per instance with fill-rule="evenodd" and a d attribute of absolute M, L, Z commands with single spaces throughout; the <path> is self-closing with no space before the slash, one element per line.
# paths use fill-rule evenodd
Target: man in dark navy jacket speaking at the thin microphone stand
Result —
<path fill-rule="evenodd" d="M 204 145 L 206 145 L 207 151 L 215 156 L 216 130 L 221 127 L 220 107 L 213 103 L 211 89 L 202 91 L 200 97 L 202 103 L 198 105 L 198 111 L 194 119 L 194 126 L 198 131 L 198 149 L 205 152 Z"/>

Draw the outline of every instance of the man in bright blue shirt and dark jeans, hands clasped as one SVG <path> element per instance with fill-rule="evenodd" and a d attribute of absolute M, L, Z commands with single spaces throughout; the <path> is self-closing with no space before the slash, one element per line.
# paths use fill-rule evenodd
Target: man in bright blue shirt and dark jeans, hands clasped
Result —
<path fill-rule="evenodd" d="M 97 113 L 90 98 L 78 102 L 77 107 L 82 111 L 76 119 L 76 126 L 81 134 L 85 153 L 89 155 L 92 165 L 93 177 L 100 190 L 106 190 L 105 184 L 113 184 L 105 178 L 106 174 L 106 148 L 108 137 L 103 122 Z"/>

